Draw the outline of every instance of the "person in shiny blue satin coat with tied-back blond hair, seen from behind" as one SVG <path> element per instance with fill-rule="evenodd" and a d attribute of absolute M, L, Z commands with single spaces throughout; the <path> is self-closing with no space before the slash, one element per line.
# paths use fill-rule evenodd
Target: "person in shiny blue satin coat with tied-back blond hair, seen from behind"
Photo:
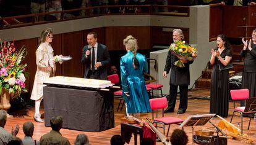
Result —
<path fill-rule="evenodd" d="M 143 77 L 148 71 L 148 63 L 144 55 L 137 53 L 138 44 L 133 36 L 127 36 L 124 45 L 127 53 L 120 61 L 122 96 L 126 101 L 127 115 L 139 117 L 140 112 L 151 112 Z"/>

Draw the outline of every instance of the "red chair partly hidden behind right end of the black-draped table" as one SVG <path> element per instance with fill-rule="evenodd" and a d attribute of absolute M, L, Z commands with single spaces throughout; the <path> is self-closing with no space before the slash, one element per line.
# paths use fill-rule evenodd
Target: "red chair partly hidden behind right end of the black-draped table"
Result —
<path fill-rule="evenodd" d="M 108 80 L 111 81 L 112 84 L 119 84 L 119 76 L 118 74 L 111 74 L 108 76 Z M 124 106 L 124 98 L 122 98 L 122 90 L 118 90 L 116 92 L 114 92 L 114 99 L 118 99 L 120 100 L 119 101 L 119 104 L 118 104 L 118 107 L 117 107 L 117 111 L 119 110 L 120 108 L 120 105 L 122 103 L 122 106 L 121 106 L 121 111 L 122 111 L 122 107 Z"/>

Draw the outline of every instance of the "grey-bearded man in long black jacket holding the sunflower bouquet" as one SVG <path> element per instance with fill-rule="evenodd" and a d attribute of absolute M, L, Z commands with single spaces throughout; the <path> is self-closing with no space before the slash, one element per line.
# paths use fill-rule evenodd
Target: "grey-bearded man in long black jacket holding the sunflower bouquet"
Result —
<path fill-rule="evenodd" d="M 184 39 L 184 35 L 181 29 L 173 30 L 173 42 L 174 47 L 176 42 L 182 42 Z M 182 43 L 185 43 L 184 41 Z M 173 44 L 171 44 L 172 46 Z M 188 44 L 186 44 L 188 45 Z M 175 47 L 176 49 L 177 47 Z M 182 50 L 182 49 L 181 49 Z M 185 51 L 185 50 L 184 50 Z M 187 50 L 186 50 L 187 51 Z M 168 108 L 164 111 L 173 112 L 175 109 L 176 98 L 177 98 L 177 87 L 179 86 L 180 91 L 180 103 L 179 103 L 179 111 L 177 114 L 183 114 L 187 109 L 187 92 L 188 86 L 190 83 L 190 74 L 189 74 L 189 65 L 193 63 L 193 60 L 188 60 L 181 55 L 177 55 L 177 53 L 172 53 L 172 50 L 169 50 L 166 65 L 164 67 L 163 77 L 166 78 L 167 74 L 171 69 L 170 76 L 170 90 L 169 90 L 169 102 Z M 182 66 L 176 65 L 177 61 L 181 61 Z"/>

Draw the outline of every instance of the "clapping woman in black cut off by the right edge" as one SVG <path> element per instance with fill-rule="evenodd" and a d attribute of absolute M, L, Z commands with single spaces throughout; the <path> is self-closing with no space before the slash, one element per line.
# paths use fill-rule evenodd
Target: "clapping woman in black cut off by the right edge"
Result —
<path fill-rule="evenodd" d="M 244 71 L 242 72 L 242 88 L 248 88 L 250 98 L 256 97 L 256 29 L 252 32 L 252 39 L 244 41 L 241 57 L 244 57 Z M 244 101 L 241 101 L 244 106 Z"/>

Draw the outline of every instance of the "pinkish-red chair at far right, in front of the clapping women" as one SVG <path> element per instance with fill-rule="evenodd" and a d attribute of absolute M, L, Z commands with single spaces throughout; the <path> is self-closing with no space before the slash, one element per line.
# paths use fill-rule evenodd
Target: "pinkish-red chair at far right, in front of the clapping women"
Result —
<path fill-rule="evenodd" d="M 249 98 L 249 90 L 247 88 L 244 88 L 244 89 L 238 89 L 238 90 L 230 90 L 230 95 L 231 95 L 231 98 L 232 100 L 248 100 Z M 256 101 L 256 100 L 255 100 Z M 249 102 L 247 102 L 249 103 Z M 256 105 L 256 102 L 254 103 Z M 238 112 L 239 115 L 235 114 L 235 112 Z M 233 111 L 233 115 L 231 117 L 231 120 L 230 122 L 232 122 L 233 120 L 233 116 L 239 116 L 241 117 L 241 132 L 242 132 L 242 126 L 243 126 L 243 115 L 244 114 L 255 114 L 256 111 L 245 111 L 245 106 L 243 107 L 238 107 L 238 108 L 235 108 L 234 111 Z M 250 120 L 252 119 L 252 117 L 250 117 Z M 250 128 L 250 121 L 249 121 L 249 125 L 248 125 L 248 130 Z"/>

